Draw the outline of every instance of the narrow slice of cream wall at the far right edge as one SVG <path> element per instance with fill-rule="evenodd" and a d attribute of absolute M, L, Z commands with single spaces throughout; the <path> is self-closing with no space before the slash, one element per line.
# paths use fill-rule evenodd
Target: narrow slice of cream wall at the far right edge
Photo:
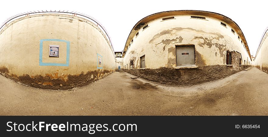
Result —
<path fill-rule="evenodd" d="M 254 60 L 255 67 L 268 73 L 268 33 L 264 34 Z"/>

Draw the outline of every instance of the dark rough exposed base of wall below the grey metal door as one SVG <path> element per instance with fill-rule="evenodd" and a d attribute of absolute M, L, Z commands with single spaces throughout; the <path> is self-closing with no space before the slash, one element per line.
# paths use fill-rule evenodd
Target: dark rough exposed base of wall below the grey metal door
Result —
<path fill-rule="evenodd" d="M 245 70 L 250 66 L 242 65 L 239 70 L 234 70 L 226 65 L 201 66 L 192 69 L 173 69 L 161 67 L 158 69 L 124 69 L 137 77 L 151 80 L 160 84 L 168 84 L 171 86 L 192 86 L 202 84 L 209 81 L 218 80 L 228 77 L 241 70 Z"/>

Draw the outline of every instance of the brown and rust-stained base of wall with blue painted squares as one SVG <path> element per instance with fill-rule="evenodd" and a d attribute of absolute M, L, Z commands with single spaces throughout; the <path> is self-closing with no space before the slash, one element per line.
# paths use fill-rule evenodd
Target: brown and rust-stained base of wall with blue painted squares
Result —
<path fill-rule="evenodd" d="M 113 71 L 98 69 L 94 71 L 88 71 L 86 74 L 84 74 L 84 72 L 81 72 L 79 75 L 69 74 L 66 75 L 66 79 L 58 77 L 57 75 L 48 74 L 46 74 L 46 76 L 36 75 L 33 77 L 30 77 L 28 74 L 17 76 L 15 74 L 9 74 L 9 70 L 6 67 L 0 67 L 0 72 L 3 76 L 30 87 L 51 90 L 66 90 L 90 84 L 107 76 L 108 74 L 111 74 Z"/>

